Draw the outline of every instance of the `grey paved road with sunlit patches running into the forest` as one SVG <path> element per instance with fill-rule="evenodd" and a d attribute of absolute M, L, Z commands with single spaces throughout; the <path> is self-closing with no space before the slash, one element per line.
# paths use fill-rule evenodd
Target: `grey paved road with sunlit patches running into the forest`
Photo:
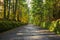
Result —
<path fill-rule="evenodd" d="M 0 40 L 60 40 L 60 36 L 29 24 L 0 33 Z"/>

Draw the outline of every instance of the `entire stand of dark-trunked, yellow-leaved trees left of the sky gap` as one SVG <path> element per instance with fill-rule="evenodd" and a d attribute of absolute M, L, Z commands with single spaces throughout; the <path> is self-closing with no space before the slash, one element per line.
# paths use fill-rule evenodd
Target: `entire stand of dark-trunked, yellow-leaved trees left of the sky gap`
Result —
<path fill-rule="evenodd" d="M 28 5 L 26 0 L 4 0 L 0 18 L 28 23 Z M 1 10 L 1 9 L 0 9 Z"/>

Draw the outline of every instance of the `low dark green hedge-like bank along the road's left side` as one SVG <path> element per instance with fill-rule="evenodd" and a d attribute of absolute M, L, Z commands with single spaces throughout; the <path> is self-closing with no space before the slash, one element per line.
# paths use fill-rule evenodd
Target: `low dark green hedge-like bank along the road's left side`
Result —
<path fill-rule="evenodd" d="M 19 27 L 21 25 L 23 25 L 23 23 L 16 21 L 0 21 L 0 32 Z"/>

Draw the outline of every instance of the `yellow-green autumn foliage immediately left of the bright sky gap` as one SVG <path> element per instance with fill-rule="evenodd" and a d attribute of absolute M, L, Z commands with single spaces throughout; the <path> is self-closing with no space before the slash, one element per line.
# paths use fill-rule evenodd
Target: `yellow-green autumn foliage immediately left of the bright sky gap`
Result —
<path fill-rule="evenodd" d="M 22 23 L 28 23 L 29 21 L 29 15 L 28 15 L 28 5 L 26 0 L 20 0 L 20 10 L 21 10 L 21 14 L 20 14 L 20 21 Z"/>

